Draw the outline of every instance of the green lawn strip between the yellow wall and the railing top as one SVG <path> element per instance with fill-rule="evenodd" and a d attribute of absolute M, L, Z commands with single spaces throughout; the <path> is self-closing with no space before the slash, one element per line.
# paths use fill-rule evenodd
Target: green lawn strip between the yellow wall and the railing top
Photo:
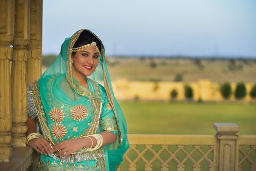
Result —
<path fill-rule="evenodd" d="M 256 105 L 120 101 L 129 134 L 215 134 L 214 123 L 236 123 L 239 135 L 256 135 Z"/>

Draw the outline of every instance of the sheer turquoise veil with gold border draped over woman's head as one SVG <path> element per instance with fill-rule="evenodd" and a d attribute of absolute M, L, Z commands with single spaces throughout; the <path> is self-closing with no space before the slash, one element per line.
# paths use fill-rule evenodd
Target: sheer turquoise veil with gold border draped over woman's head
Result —
<path fill-rule="evenodd" d="M 65 39 L 65 41 L 61 46 L 61 50 L 58 57 L 55 59 L 52 65 L 47 69 L 47 71 L 44 74 L 42 74 L 42 76 L 38 80 L 39 89 L 40 87 L 46 86 L 44 83 L 44 79 L 46 77 L 49 77 L 55 74 L 66 74 L 66 78 L 70 84 L 70 87 L 77 94 L 85 97 L 90 97 L 90 98 L 98 98 L 98 97 L 94 97 L 90 92 L 90 90 L 79 85 L 77 86 L 77 84 L 74 83 L 74 79 L 72 77 L 72 70 L 71 70 L 72 51 L 71 50 L 82 31 L 83 29 L 77 31 L 71 37 Z M 86 31 L 89 31 L 90 33 L 92 33 L 90 30 L 86 30 Z M 97 45 L 97 46 L 101 51 L 100 51 L 99 63 L 96 68 L 96 71 L 90 76 L 90 78 L 102 84 L 102 86 L 104 87 L 108 100 L 114 110 L 114 114 L 117 121 L 117 127 L 118 127 L 117 141 L 113 144 L 106 146 L 105 148 L 105 150 L 108 151 L 108 156 L 106 156 L 107 157 L 106 160 L 108 160 L 110 170 L 115 170 L 116 166 L 120 165 L 123 155 L 126 152 L 127 148 L 129 147 L 129 143 L 126 136 L 127 127 L 126 127 L 126 122 L 125 122 L 122 110 L 113 93 L 109 71 L 108 71 L 108 68 L 106 67 L 106 62 L 105 62 L 104 46 L 101 40 L 94 33 L 92 34 L 100 41 L 101 45 L 100 46 Z M 44 88 L 42 88 L 42 90 L 44 90 Z"/>

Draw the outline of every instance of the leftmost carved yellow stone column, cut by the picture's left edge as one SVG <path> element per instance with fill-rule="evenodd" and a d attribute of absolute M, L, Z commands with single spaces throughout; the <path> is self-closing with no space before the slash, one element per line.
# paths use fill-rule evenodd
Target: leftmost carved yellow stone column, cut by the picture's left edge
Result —
<path fill-rule="evenodd" d="M 14 34 L 14 0 L 0 1 L 0 18 L 0 162 L 8 162 L 12 156 L 10 45 Z"/>

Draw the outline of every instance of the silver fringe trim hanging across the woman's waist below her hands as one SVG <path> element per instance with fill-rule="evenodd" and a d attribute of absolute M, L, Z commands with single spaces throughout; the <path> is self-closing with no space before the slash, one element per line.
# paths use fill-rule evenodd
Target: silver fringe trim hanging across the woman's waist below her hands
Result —
<path fill-rule="evenodd" d="M 65 163 L 74 163 L 74 162 L 80 162 L 84 160 L 98 160 L 99 158 L 105 157 L 104 153 L 99 153 L 97 151 L 88 151 L 88 152 L 70 154 L 69 156 L 66 156 L 66 157 L 56 156 L 56 153 L 52 153 L 49 156 L 54 158 L 55 160 L 65 162 Z"/>

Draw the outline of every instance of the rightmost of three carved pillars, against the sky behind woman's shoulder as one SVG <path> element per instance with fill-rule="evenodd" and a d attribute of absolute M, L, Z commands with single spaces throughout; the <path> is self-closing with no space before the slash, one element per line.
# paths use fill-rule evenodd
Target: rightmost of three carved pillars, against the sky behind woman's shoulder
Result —
<path fill-rule="evenodd" d="M 28 45 L 27 83 L 41 76 L 42 0 L 30 4 L 30 41 Z"/>

